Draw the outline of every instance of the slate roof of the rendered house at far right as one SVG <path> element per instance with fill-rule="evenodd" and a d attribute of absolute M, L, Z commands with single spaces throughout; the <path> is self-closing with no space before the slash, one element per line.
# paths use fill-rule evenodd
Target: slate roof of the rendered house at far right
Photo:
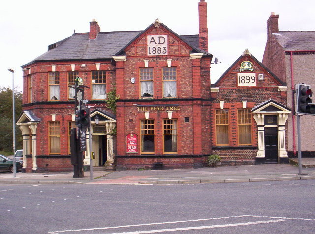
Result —
<path fill-rule="evenodd" d="M 315 50 L 315 31 L 279 31 L 272 35 L 284 50 Z"/>

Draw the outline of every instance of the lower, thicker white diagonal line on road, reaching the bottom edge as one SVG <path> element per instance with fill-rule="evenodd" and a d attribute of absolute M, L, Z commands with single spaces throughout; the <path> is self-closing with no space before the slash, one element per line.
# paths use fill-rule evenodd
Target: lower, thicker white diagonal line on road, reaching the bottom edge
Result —
<path fill-rule="evenodd" d="M 247 223 L 235 223 L 235 224 L 219 224 L 219 225 L 209 225 L 209 226 L 199 226 L 199 227 L 170 228 L 170 229 L 158 229 L 158 230 L 135 231 L 135 232 L 124 232 L 124 233 L 109 233 L 109 234 L 160 233 L 160 232 L 172 232 L 172 231 L 208 229 L 208 228 L 225 228 L 225 227 L 245 226 L 245 225 L 253 225 L 253 224 L 266 224 L 266 223 L 275 223 L 275 222 L 282 222 L 282 221 L 284 221 L 284 219 L 256 221 L 256 222 L 247 222 Z"/>

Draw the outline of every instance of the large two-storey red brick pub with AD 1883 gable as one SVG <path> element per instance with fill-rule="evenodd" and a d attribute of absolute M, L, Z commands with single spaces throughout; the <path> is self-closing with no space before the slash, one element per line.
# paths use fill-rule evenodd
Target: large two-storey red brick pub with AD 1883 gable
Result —
<path fill-rule="evenodd" d="M 206 2 L 199 35 L 178 35 L 156 20 L 143 31 L 89 33 L 48 46 L 23 68 L 23 170 L 72 170 L 69 132 L 74 84 L 83 79 L 92 120 L 93 166 L 121 169 L 202 167 L 211 153 Z M 106 107 L 116 87 L 117 113 Z M 99 121 L 96 121 L 99 120 Z M 113 133 L 117 131 L 117 135 Z M 85 164 L 89 163 L 86 154 Z"/>

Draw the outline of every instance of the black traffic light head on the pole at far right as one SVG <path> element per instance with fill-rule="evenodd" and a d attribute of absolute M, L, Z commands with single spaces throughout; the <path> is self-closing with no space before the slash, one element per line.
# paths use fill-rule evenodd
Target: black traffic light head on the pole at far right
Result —
<path fill-rule="evenodd" d="M 297 85 L 296 96 L 296 113 L 298 114 L 315 114 L 315 104 L 312 103 L 311 86 L 307 84 Z"/>

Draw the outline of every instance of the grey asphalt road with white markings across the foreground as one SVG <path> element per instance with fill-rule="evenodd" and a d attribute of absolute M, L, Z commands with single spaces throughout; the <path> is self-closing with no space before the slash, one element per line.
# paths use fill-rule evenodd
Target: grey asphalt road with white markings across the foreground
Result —
<path fill-rule="evenodd" d="M 313 234 L 315 180 L 0 185 L 1 234 Z"/>

